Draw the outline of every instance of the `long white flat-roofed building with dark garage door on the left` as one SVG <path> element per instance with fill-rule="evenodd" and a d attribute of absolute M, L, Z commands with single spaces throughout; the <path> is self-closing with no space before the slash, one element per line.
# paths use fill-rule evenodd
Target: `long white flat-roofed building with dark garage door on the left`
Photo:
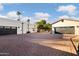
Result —
<path fill-rule="evenodd" d="M 34 24 L 29 25 L 30 32 L 35 32 L 32 30 Z M 0 35 L 3 34 L 26 34 L 27 33 L 27 22 L 11 20 L 8 18 L 0 18 Z"/>

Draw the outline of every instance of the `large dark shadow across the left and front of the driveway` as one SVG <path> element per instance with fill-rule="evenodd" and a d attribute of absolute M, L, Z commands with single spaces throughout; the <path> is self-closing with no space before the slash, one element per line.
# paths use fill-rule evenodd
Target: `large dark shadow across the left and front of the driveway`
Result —
<path fill-rule="evenodd" d="M 33 34 L 31 34 L 33 35 Z M 37 34 L 36 34 L 37 35 Z M 29 41 L 30 39 L 38 38 L 37 35 L 7 35 L 0 36 L 0 55 L 1 56 L 76 56 L 75 54 L 39 45 Z M 41 35 L 41 34 L 40 34 Z M 46 38 L 46 35 L 41 35 L 40 39 Z M 47 39 L 49 39 L 47 37 Z"/>

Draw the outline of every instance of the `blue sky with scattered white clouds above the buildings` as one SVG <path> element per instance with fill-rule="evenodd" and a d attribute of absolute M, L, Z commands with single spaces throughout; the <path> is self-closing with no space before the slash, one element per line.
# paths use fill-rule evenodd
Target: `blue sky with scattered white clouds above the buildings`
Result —
<path fill-rule="evenodd" d="M 31 21 L 45 19 L 53 22 L 58 18 L 78 18 L 79 4 L 77 3 L 12 3 L 0 4 L 0 15 L 16 17 L 11 12 L 20 11 L 23 17 L 31 18 Z M 43 16 L 43 17 L 42 17 Z M 12 18 L 13 19 L 13 18 Z M 24 18 L 24 20 L 26 20 Z"/>

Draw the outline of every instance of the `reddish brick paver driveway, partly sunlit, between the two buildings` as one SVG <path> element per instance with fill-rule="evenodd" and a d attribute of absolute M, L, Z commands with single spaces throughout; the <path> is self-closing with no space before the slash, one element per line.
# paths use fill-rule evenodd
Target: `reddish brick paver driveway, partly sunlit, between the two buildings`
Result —
<path fill-rule="evenodd" d="M 76 55 L 70 40 L 54 39 L 49 33 L 0 36 L 0 55 L 66 56 Z"/>

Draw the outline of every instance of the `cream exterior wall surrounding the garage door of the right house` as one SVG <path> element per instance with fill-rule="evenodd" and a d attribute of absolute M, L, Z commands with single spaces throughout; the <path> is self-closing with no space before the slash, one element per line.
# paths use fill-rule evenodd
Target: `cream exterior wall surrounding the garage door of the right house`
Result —
<path fill-rule="evenodd" d="M 52 31 L 53 31 L 53 34 L 54 34 L 54 28 L 53 27 L 64 27 L 64 26 L 75 26 L 75 35 L 79 35 L 79 22 L 78 21 L 72 21 L 72 20 L 64 20 L 63 22 L 62 21 L 59 21 L 55 24 L 52 24 Z"/>

